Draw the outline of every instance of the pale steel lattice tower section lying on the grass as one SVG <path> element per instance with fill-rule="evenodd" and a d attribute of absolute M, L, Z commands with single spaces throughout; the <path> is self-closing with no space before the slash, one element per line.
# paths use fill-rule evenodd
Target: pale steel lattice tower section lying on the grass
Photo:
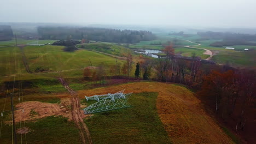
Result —
<path fill-rule="evenodd" d="M 123 109 L 131 107 L 132 105 L 127 102 L 132 93 L 123 93 L 123 91 L 111 94 L 94 95 L 86 97 L 86 100 L 97 100 L 96 103 L 85 107 L 84 114 L 96 113 L 102 111 L 110 111 L 116 109 Z"/>

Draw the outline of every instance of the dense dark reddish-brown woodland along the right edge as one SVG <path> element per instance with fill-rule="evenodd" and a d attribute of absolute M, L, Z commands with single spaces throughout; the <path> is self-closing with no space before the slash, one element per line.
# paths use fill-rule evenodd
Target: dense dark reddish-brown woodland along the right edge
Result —
<path fill-rule="evenodd" d="M 255 132 L 255 71 L 220 67 L 202 77 L 197 94 L 234 131 Z"/>

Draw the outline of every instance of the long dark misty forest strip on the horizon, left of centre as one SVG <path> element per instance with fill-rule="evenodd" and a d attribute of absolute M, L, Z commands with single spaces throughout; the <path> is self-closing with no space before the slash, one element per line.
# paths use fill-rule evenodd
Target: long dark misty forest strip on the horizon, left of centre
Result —
<path fill-rule="evenodd" d="M 89 39 L 110 43 L 138 43 L 154 40 L 156 36 L 148 31 L 131 31 L 109 28 L 38 27 L 40 39 Z"/>

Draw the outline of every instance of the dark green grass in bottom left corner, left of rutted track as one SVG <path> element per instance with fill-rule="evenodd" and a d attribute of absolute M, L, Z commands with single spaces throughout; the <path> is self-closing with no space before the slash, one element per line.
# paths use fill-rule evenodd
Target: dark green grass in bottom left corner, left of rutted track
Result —
<path fill-rule="evenodd" d="M 25 121 L 25 124 L 31 132 L 26 134 L 26 139 L 24 134 L 17 134 L 18 143 L 21 139 L 22 143 L 81 143 L 78 129 L 67 118 L 50 116 L 36 122 Z M 24 127 L 23 122 L 21 125 Z M 3 124 L 1 144 L 11 143 L 11 128 L 11 125 Z M 20 128 L 20 123 L 16 124 L 16 128 Z"/>

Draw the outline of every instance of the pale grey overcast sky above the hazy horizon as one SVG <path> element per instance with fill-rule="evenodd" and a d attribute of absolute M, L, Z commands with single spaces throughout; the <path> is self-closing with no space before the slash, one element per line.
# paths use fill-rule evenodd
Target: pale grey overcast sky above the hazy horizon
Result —
<path fill-rule="evenodd" d="M 256 27 L 255 0 L 1 0 L 0 22 Z"/>

